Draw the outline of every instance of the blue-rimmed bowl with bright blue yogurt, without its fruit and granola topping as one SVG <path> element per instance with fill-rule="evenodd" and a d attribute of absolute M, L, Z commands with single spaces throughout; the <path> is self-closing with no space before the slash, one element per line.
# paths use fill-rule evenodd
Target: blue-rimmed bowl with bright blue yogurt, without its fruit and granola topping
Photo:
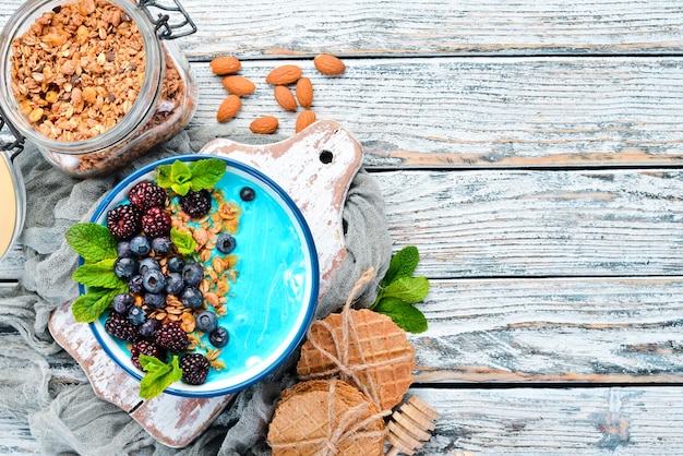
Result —
<path fill-rule="evenodd" d="M 220 158 L 227 171 L 217 189 L 226 201 L 241 206 L 239 229 L 233 235 L 238 276 L 230 283 L 227 314 L 218 324 L 229 333 L 229 343 L 218 360 L 227 369 L 211 369 L 202 385 L 171 384 L 166 393 L 185 397 L 212 397 L 239 392 L 280 365 L 303 339 L 317 302 L 319 267 L 313 238 L 289 195 L 262 172 L 241 163 L 216 156 L 182 155 L 153 163 L 120 182 L 104 199 L 92 221 L 106 224 L 107 212 L 127 202 L 137 182 L 152 180 L 159 165 L 176 159 L 193 161 Z M 239 192 L 251 187 L 256 197 L 242 202 Z M 85 289 L 81 287 L 81 292 Z M 142 379 L 130 360 L 130 344 L 111 337 L 104 327 L 108 312 L 91 324 L 105 351 L 125 372 Z M 206 339 L 206 335 L 202 336 Z"/>

